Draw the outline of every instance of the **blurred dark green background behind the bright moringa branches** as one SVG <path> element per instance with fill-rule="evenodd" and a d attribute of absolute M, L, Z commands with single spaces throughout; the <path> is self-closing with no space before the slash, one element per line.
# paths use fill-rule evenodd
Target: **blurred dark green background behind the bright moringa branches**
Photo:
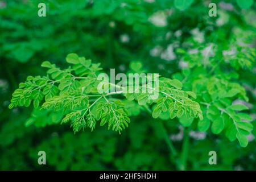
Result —
<path fill-rule="evenodd" d="M 46 3 L 46 17 L 38 16 L 40 2 Z M 217 4 L 217 17 L 208 15 L 210 2 Z M 74 134 L 68 125 L 60 125 L 61 113 L 32 106 L 8 109 L 11 94 L 28 75 L 45 75 L 42 61 L 65 67 L 65 56 L 71 52 L 101 63 L 106 72 L 127 72 L 132 61 L 139 61 L 148 72 L 171 78 L 187 65 L 177 48 L 206 48 L 213 40 L 225 47 L 237 32 L 255 32 L 255 9 L 255 3 L 241 9 L 235 0 L 195 0 L 183 11 L 171 0 L 0 0 L 0 169 L 179 170 L 176 163 L 184 139 L 183 127 L 175 119 L 152 119 L 134 107 L 131 123 L 121 135 L 100 126 Z M 250 41 L 255 47 L 255 39 Z M 253 67 L 237 72 L 255 118 Z M 254 170 L 254 135 L 242 148 L 222 135 L 193 130 L 184 169 Z M 175 158 L 167 140 L 177 148 Z M 47 165 L 38 164 L 40 150 L 46 151 Z M 210 166 L 212 150 L 217 152 L 217 165 Z"/>

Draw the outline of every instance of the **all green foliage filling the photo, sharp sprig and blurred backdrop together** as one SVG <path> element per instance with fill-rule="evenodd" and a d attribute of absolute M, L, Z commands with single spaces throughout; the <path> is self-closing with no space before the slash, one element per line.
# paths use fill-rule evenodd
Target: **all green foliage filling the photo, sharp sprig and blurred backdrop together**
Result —
<path fill-rule="evenodd" d="M 254 1 L 39 2 L 0 1 L 0 169 L 256 168 Z M 110 68 L 159 98 L 98 93 Z"/>

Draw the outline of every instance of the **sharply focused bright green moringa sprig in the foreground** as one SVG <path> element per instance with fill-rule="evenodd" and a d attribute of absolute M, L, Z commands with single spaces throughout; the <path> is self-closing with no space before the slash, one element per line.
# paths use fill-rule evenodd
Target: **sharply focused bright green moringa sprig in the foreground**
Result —
<path fill-rule="evenodd" d="M 60 69 L 55 64 L 44 61 L 42 67 L 48 68 L 47 76 L 28 76 L 27 81 L 20 83 L 19 89 L 13 93 L 9 108 L 27 107 L 33 101 L 34 107 L 61 110 L 65 115 L 61 123 L 71 121 L 75 133 L 86 127 L 93 130 L 96 121 L 100 121 L 101 126 L 107 123 L 108 129 L 120 133 L 130 122 L 124 100 L 136 100 L 147 109 L 148 105 L 155 103 L 152 111 L 154 118 L 168 110 L 170 118 L 203 119 L 200 105 L 190 98 L 195 98 L 195 93 L 182 90 L 179 80 L 160 78 L 158 98 L 152 98 L 149 93 L 123 92 L 129 85 L 123 86 L 121 92 L 99 93 L 98 86 L 101 81 L 97 75 L 101 70 L 100 64 L 93 64 L 91 60 L 79 57 L 75 53 L 69 54 L 66 60 L 72 67 Z M 106 84 L 113 86 L 110 82 Z M 102 86 L 106 87 L 106 84 Z M 143 85 L 138 89 L 141 90 L 142 87 Z M 115 95 L 123 97 L 114 98 Z"/>

